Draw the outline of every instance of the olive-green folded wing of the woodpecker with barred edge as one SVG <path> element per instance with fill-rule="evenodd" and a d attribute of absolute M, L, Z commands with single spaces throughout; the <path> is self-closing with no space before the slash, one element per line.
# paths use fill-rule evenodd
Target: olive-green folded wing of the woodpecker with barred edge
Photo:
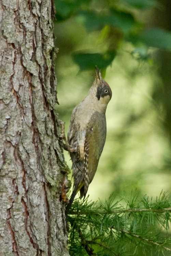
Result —
<path fill-rule="evenodd" d="M 95 111 L 87 125 L 84 143 L 84 196 L 97 170 L 106 140 L 106 118 Z"/>

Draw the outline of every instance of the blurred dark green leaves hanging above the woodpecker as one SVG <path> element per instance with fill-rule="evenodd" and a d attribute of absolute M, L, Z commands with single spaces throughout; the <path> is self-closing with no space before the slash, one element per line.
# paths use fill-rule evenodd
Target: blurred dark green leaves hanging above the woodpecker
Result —
<path fill-rule="evenodd" d="M 171 50 L 170 32 L 157 27 L 146 28 L 145 21 L 140 22 L 134 15 L 136 11 L 150 7 L 160 8 L 155 0 L 56 0 L 55 4 L 56 22 L 74 18 L 88 33 L 105 30 L 105 33 L 101 33 L 101 41 L 106 47 L 102 47 L 100 53 L 96 47 L 73 53 L 73 59 L 81 71 L 93 69 L 96 63 L 99 63 L 99 68 L 106 69 L 115 58 L 116 50 L 123 40 L 133 43 L 140 56 L 144 48 L 143 55 L 146 53 L 146 58 L 146 46 Z M 76 27 L 75 29 L 77 30 Z M 77 31 L 78 37 L 80 32 Z"/>

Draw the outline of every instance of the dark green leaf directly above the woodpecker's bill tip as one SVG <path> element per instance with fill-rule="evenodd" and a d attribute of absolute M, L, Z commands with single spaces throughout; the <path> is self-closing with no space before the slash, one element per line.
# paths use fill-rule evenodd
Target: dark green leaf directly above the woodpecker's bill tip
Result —
<path fill-rule="evenodd" d="M 99 69 L 108 67 L 116 56 L 115 51 L 108 51 L 105 54 L 100 53 L 75 53 L 73 60 L 79 65 L 80 71 L 94 69 L 98 66 Z"/>

